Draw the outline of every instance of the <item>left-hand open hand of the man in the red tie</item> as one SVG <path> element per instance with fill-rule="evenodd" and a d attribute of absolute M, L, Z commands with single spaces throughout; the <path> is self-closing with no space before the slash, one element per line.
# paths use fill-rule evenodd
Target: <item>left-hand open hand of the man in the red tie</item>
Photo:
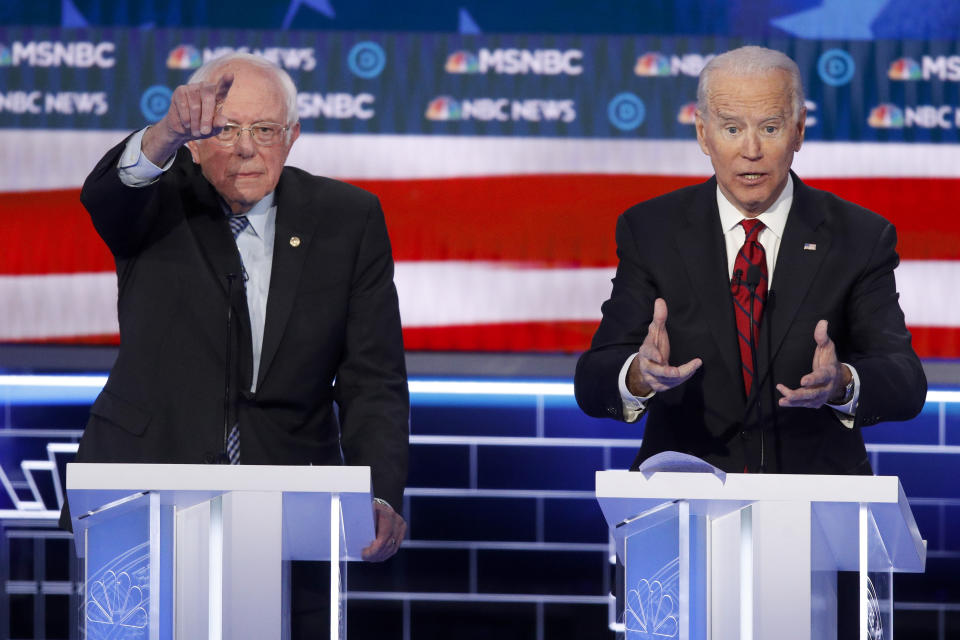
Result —
<path fill-rule="evenodd" d="M 666 391 L 689 380 L 702 364 L 703 360 L 694 358 L 679 367 L 670 366 L 667 303 L 657 298 L 647 337 L 627 371 L 627 389 L 637 397 L 648 396 L 651 391 Z"/>

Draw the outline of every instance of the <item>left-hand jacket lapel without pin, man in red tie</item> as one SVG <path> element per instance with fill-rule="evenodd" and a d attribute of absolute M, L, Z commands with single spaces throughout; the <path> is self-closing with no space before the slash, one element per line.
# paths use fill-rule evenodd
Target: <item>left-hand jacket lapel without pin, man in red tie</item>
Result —
<path fill-rule="evenodd" d="M 677 234 L 684 266 L 694 294 L 703 308 L 723 362 L 732 375 L 740 376 L 737 327 L 727 280 L 726 247 L 717 209 L 717 181 L 711 178 L 697 189 L 686 224 Z M 707 320 L 709 318 L 709 320 Z"/>

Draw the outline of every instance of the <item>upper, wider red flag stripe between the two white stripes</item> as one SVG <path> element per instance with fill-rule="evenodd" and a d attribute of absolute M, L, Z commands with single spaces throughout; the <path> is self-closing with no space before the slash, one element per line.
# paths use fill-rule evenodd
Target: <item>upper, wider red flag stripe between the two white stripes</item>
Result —
<path fill-rule="evenodd" d="M 549 175 L 358 180 L 384 205 L 397 260 L 490 260 L 543 266 L 616 263 L 614 225 L 631 205 L 698 178 Z M 811 180 L 880 213 L 904 259 L 960 259 L 960 180 Z M 0 194 L 0 274 L 112 271 L 75 189 Z"/>

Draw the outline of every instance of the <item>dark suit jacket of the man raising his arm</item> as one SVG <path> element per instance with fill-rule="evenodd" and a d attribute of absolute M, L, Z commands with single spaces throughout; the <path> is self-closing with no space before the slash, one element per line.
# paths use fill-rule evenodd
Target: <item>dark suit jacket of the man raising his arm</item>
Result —
<path fill-rule="evenodd" d="M 231 285 L 227 278 L 241 273 L 240 257 L 216 192 L 185 149 L 156 183 L 124 186 L 116 168 L 124 144 L 107 153 L 81 193 L 116 259 L 121 344 L 77 460 L 217 459 L 224 451 L 229 307 L 228 423 L 239 423 L 242 462 L 369 465 L 374 495 L 399 511 L 409 397 L 393 258 L 377 198 L 284 168 L 251 393 L 242 279 Z"/>

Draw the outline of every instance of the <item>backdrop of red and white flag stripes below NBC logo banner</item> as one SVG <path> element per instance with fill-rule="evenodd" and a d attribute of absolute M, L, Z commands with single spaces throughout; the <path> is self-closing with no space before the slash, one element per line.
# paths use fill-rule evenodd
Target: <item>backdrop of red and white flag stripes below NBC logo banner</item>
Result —
<path fill-rule="evenodd" d="M 0 90 L 0 341 L 119 340 L 112 258 L 79 203 L 80 185 L 108 148 L 162 113 L 145 102 L 149 91 L 182 82 L 222 50 L 213 46 L 218 38 L 236 46 L 265 37 L 212 31 L 194 35 L 203 40 L 194 46 L 182 34 L 140 42 L 117 31 L 42 36 L 113 42 L 101 51 L 113 64 L 100 75 L 68 68 L 66 54 L 57 68 L 31 66 L 25 43 L 40 37 L 0 33 L 10 58 L 0 68 L 8 80 Z M 284 37 L 289 51 L 307 50 L 307 36 Z M 694 140 L 690 101 L 706 55 L 727 43 L 404 38 L 331 37 L 296 59 L 257 49 L 294 65 L 302 92 L 304 134 L 289 164 L 379 195 L 408 349 L 586 348 L 610 293 L 616 217 L 712 174 Z M 371 42 L 382 43 L 373 51 L 387 62 L 374 80 L 355 56 Z M 847 47 L 856 74 L 838 87 L 838 74 L 822 68 L 832 46 L 787 47 L 811 100 L 794 168 L 808 184 L 896 225 L 897 285 L 915 348 L 925 358 L 960 357 L 960 111 L 941 106 L 957 104 L 956 84 L 936 77 L 929 52 L 856 43 Z M 149 69 L 125 60 L 127 49 Z M 520 52 L 513 72 L 511 51 Z M 43 62 L 38 56 L 33 61 Z M 909 78 L 910 62 L 933 77 Z M 151 79 L 140 77 L 148 71 Z M 89 79 L 78 80 L 82 73 Z M 110 73 L 112 84 L 104 80 Z M 82 91 L 51 89 L 81 80 Z M 97 114 L 97 91 L 108 85 L 99 99 L 109 109 Z M 636 101 L 626 111 L 624 93 Z M 122 94 L 133 106 L 120 104 Z"/>

